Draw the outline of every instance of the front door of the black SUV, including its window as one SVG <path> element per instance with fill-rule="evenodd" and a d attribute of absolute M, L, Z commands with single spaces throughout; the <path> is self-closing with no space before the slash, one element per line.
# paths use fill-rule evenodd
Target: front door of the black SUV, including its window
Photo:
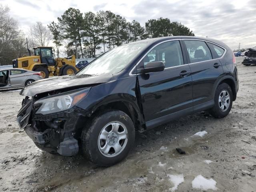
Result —
<path fill-rule="evenodd" d="M 155 46 L 137 68 L 154 61 L 163 61 L 164 71 L 138 74 L 144 118 L 149 127 L 170 120 L 170 114 L 192 110 L 193 102 L 190 67 L 184 64 L 180 41 Z"/>

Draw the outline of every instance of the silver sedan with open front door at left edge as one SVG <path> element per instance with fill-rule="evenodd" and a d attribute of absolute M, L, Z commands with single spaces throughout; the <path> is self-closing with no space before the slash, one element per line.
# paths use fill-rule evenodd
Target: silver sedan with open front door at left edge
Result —
<path fill-rule="evenodd" d="M 40 72 L 25 69 L 0 70 L 0 89 L 22 88 L 43 79 Z"/>

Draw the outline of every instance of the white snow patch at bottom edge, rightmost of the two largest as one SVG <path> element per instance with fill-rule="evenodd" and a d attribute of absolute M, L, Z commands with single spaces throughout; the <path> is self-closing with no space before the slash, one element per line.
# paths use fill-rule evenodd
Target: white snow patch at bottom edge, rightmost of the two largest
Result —
<path fill-rule="evenodd" d="M 194 180 L 192 181 L 192 187 L 195 189 L 202 189 L 202 190 L 218 190 L 216 188 L 216 181 L 214 181 L 212 178 L 211 179 L 206 179 L 202 175 L 196 176 Z"/>

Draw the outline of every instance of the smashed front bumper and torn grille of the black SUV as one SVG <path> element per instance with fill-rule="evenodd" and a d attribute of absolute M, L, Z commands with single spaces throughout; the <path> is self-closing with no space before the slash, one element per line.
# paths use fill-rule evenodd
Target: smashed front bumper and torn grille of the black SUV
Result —
<path fill-rule="evenodd" d="M 32 106 L 32 99 L 26 98 L 22 102 L 17 121 L 36 146 L 41 150 L 63 156 L 77 154 L 76 128 L 81 117 L 79 110 L 74 107 L 65 112 L 36 115 Z"/>

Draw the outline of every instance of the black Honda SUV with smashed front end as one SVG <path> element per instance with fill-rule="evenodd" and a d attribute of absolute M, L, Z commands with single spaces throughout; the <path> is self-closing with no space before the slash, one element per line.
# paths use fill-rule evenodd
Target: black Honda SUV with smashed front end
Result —
<path fill-rule="evenodd" d="M 222 42 L 152 38 L 114 48 L 74 75 L 26 86 L 17 117 L 38 148 L 64 156 L 80 148 L 111 166 L 127 156 L 136 131 L 202 110 L 222 118 L 237 92 L 236 60 Z"/>

